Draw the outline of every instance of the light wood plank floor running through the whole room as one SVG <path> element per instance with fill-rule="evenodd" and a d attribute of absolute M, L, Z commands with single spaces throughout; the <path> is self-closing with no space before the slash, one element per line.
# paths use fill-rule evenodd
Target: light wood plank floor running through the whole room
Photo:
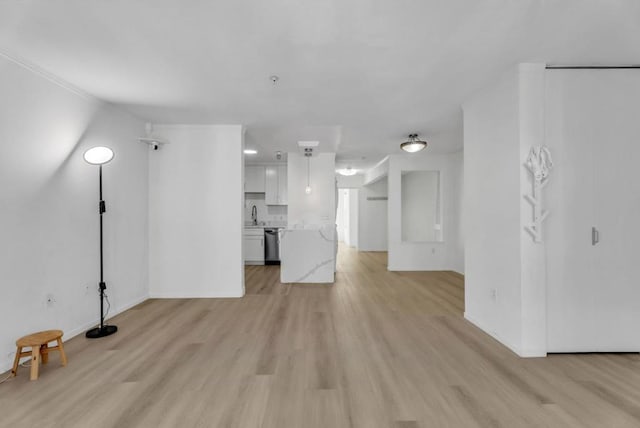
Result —
<path fill-rule="evenodd" d="M 463 279 L 341 248 L 335 285 L 246 270 L 242 299 L 149 300 L 0 385 L 2 427 L 639 427 L 637 354 L 519 359 Z"/>

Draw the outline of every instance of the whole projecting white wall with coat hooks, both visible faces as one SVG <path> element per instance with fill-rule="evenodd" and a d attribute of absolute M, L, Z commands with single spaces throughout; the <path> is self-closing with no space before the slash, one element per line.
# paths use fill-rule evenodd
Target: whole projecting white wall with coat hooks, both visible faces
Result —
<path fill-rule="evenodd" d="M 543 144 L 544 65 L 522 64 L 464 105 L 465 317 L 522 356 L 544 355 L 544 248 L 524 231 L 524 167 Z"/>

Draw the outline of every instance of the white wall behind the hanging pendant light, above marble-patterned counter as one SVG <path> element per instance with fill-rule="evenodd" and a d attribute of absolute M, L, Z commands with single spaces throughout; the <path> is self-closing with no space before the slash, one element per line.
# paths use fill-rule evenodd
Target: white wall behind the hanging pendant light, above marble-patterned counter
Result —
<path fill-rule="evenodd" d="M 309 165 L 312 190 L 311 194 L 306 194 L 307 158 L 298 153 L 288 154 L 289 228 L 302 224 L 335 224 L 335 153 L 316 153 L 311 157 Z"/>

